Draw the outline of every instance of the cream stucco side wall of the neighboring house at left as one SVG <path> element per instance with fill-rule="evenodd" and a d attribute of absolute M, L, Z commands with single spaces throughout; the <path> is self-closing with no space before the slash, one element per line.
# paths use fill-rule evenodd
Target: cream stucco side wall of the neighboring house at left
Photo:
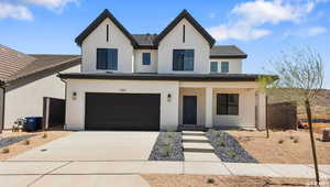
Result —
<path fill-rule="evenodd" d="M 62 73 L 78 72 L 80 65 Z M 18 118 L 42 117 L 43 97 L 65 98 L 65 84 L 56 74 L 6 92 L 4 128 L 11 128 Z"/>

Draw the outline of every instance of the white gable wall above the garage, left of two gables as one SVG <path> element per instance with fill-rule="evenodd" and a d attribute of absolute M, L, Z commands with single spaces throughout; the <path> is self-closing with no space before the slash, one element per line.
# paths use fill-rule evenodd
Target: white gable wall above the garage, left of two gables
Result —
<path fill-rule="evenodd" d="M 109 41 L 107 42 L 107 24 L 109 24 Z M 96 28 L 82 42 L 82 72 L 106 72 L 97 70 L 97 48 L 118 48 L 119 73 L 133 72 L 133 46 L 130 40 L 112 23 L 106 19 Z"/>

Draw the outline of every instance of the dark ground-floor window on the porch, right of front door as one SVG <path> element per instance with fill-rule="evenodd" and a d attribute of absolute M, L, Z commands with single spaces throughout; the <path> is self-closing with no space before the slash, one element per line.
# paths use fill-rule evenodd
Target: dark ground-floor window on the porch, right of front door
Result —
<path fill-rule="evenodd" d="M 239 114 L 239 95 L 238 94 L 218 94 L 217 95 L 217 114 Z"/>

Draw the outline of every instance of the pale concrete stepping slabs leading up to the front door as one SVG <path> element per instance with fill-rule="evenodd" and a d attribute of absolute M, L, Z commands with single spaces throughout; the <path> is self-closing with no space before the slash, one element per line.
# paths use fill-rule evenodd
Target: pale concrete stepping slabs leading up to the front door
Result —
<path fill-rule="evenodd" d="M 183 146 L 185 161 L 220 162 L 202 131 L 183 131 Z"/>

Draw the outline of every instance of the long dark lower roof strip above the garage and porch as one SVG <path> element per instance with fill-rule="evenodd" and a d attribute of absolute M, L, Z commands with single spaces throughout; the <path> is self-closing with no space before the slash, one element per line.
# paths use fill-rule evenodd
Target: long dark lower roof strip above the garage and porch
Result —
<path fill-rule="evenodd" d="M 70 73 L 63 79 L 182 80 L 182 81 L 256 81 L 262 74 L 152 74 L 152 73 Z"/>

